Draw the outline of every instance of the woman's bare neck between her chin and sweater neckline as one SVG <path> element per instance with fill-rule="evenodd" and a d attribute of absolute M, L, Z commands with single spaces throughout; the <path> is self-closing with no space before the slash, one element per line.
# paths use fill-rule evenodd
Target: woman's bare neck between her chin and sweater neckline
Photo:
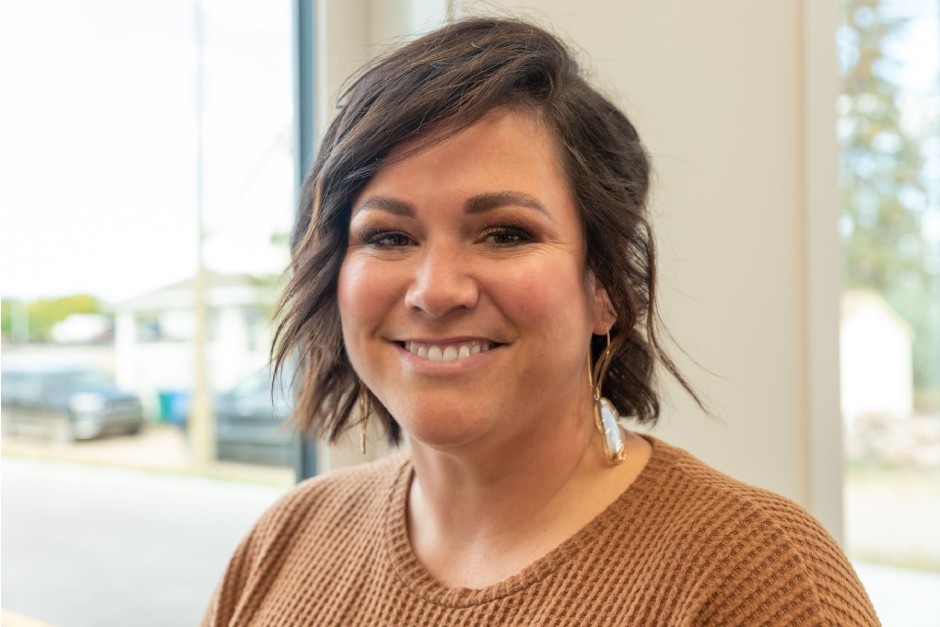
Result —
<path fill-rule="evenodd" d="M 603 511 L 639 474 L 648 444 L 611 466 L 586 403 L 502 447 L 439 451 L 412 442 L 409 537 L 445 585 L 483 587 L 521 571 Z M 628 459 L 630 459 L 628 457 Z"/>

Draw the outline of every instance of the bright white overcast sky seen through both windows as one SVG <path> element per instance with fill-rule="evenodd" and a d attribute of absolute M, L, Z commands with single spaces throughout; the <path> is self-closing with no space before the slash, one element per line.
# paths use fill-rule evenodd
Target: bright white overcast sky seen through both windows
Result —
<path fill-rule="evenodd" d="M 891 0 L 922 18 L 897 50 L 912 93 L 937 90 L 938 1 Z M 194 6 L 0 3 L 4 297 L 115 302 L 194 274 Z M 293 213 L 290 2 L 203 6 L 206 263 L 278 272 L 271 236 Z"/>

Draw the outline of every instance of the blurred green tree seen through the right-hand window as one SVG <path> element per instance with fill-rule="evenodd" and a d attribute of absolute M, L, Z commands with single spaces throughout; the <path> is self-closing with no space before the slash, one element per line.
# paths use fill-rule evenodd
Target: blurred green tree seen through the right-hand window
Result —
<path fill-rule="evenodd" d="M 892 42 L 906 21 L 881 0 L 844 0 L 843 85 L 839 98 L 845 287 L 880 293 L 915 333 L 914 383 L 920 399 L 940 389 L 938 277 L 923 235 L 928 191 L 923 147 L 905 124 Z"/>

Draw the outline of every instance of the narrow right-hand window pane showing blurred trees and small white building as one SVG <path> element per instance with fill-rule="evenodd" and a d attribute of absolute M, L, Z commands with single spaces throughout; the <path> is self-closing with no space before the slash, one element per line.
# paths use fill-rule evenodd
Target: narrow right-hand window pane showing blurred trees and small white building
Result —
<path fill-rule="evenodd" d="M 940 4 L 844 0 L 846 541 L 882 620 L 940 610 Z"/>

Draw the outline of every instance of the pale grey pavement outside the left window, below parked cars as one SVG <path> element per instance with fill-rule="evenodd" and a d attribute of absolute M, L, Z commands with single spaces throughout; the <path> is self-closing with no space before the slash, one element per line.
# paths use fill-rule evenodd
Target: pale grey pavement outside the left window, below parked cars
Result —
<path fill-rule="evenodd" d="M 195 625 L 284 488 L 5 457 L 3 609 L 60 627 Z"/>

